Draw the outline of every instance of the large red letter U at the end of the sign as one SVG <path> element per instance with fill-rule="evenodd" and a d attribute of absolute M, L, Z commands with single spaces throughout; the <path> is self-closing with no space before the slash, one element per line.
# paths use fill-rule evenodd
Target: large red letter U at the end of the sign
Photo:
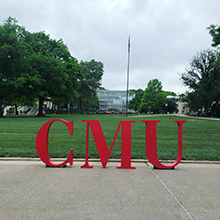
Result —
<path fill-rule="evenodd" d="M 163 165 L 157 156 L 157 122 L 160 120 L 141 120 L 146 126 L 146 155 L 148 160 L 157 168 L 170 169 L 175 167 L 182 158 L 182 125 L 184 120 L 174 121 L 178 123 L 178 157 L 173 164 Z"/>

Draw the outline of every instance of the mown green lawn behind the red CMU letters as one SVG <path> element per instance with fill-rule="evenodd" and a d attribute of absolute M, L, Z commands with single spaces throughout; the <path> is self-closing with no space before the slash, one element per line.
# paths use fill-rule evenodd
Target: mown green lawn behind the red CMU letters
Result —
<path fill-rule="evenodd" d="M 86 123 L 84 119 L 98 119 L 110 147 L 120 120 L 135 120 L 132 124 L 132 158 L 146 159 L 145 123 L 143 119 L 161 120 L 157 123 L 157 146 L 159 159 L 177 157 L 177 123 L 173 120 L 187 120 L 183 124 L 183 160 L 220 160 L 220 121 L 184 118 L 167 115 L 136 117 L 129 115 L 58 115 L 66 121 L 73 120 L 73 136 L 61 122 L 55 122 L 49 134 L 51 157 L 67 157 L 73 148 L 75 158 L 85 157 Z M 52 117 L 5 117 L 0 118 L 0 157 L 38 157 L 35 139 L 40 127 Z M 113 147 L 111 158 L 120 158 L 120 135 Z M 89 157 L 98 158 L 98 152 L 90 132 Z"/>

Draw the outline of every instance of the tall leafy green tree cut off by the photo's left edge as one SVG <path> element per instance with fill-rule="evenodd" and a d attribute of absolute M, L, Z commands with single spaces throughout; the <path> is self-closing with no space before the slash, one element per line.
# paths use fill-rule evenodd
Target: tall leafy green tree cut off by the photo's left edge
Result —
<path fill-rule="evenodd" d="M 15 18 L 9 17 L 0 25 L 0 117 L 3 104 L 21 101 L 19 94 L 30 68 L 27 36 Z"/>

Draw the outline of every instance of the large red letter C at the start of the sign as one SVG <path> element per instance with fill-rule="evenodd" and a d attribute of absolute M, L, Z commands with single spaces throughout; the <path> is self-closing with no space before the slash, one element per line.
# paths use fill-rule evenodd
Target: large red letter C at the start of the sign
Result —
<path fill-rule="evenodd" d="M 53 163 L 50 159 L 49 152 L 48 152 L 48 134 L 49 134 L 50 126 L 55 121 L 63 122 L 67 126 L 67 128 L 70 132 L 70 135 L 73 135 L 73 121 L 67 122 L 62 119 L 53 119 L 53 120 L 46 122 L 40 128 L 40 130 L 37 134 L 37 138 L 36 138 L 37 154 L 45 164 L 47 164 L 48 166 L 51 166 L 51 167 L 60 167 L 60 166 L 63 166 L 67 163 L 70 163 L 70 165 L 72 165 L 73 164 L 73 149 L 70 150 L 68 158 L 63 163 L 56 164 L 56 163 Z"/>

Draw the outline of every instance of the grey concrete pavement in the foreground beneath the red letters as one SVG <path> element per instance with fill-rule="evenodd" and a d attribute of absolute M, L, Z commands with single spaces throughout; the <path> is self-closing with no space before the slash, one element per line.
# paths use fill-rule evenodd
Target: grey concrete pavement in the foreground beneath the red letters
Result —
<path fill-rule="evenodd" d="M 120 162 L 81 169 L 46 168 L 39 160 L 0 159 L 0 219 L 220 219 L 220 164 L 180 163 L 135 170 Z"/>

